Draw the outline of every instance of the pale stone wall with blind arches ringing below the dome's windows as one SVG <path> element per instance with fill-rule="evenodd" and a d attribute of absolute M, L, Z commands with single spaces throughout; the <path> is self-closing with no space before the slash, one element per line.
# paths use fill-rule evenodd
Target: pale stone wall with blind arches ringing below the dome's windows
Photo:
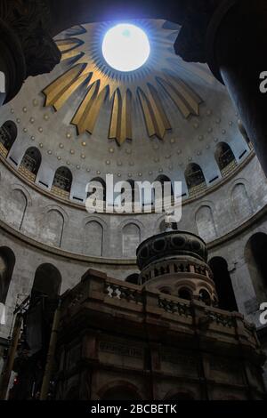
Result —
<path fill-rule="evenodd" d="M 82 206 L 43 194 L 3 163 L 0 173 L 0 247 L 12 249 L 16 258 L 0 336 L 8 335 L 18 294 L 30 293 L 39 265 L 48 262 L 59 269 L 61 292 L 77 284 L 90 267 L 124 280 L 138 272 L 134 246 L 162 227 L 162 214 L 90 215 Z M 260 301 L 245 249 L 255 233 L 267 234 L 266 191 L 266 179 L 253 157 L 221 187 L 184 202 L 178 225 L 206 239 L 209 259 L 220 256 L 227 261 L 239 311 L 256 326 Z"/>

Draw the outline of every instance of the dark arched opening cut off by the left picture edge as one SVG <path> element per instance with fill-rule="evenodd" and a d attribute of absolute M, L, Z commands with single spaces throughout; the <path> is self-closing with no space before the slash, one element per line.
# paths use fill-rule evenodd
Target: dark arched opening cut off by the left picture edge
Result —
<path fill-rule="evenodd" d="M 15 261 L 15 255 L 10 248 L 0 248 L 0 303 L 3 304 L 6 301 Z"/>

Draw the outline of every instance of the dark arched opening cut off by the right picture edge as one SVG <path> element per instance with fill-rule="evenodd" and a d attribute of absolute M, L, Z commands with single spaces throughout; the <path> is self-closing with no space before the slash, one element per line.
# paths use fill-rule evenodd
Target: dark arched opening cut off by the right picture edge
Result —
<path fill-rule="evenodd" d="M 258 232 L 247 242 L 245 260 L 259 302 L 267 299 L 267 235 Z"/>

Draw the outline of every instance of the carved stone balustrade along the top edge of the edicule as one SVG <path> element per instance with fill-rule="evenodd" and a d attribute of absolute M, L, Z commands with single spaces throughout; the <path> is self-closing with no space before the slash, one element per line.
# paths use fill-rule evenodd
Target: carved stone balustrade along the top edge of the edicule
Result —
<path fill-rule="evenodd" d="M 238 312 L 228 312 L 222 309 L 206 306 L 201 301 L 185 301 L 173 295 L 148 290 L 145 285 L 133 285 L 104 273 L 89 270 L 82 281 L 71 291 L 63 295 L 62 306 L 71 315 L 71 310 L 86 306 L 93 306 L 101 311 L 101 305 L 114 310 L 123 310 L 125 314 L 151 315 L 158 320 L 175 322 L 184 327 L 198 328 L 208 333 L 227 334 L 230 338 L 249 342 L 258 347 L 255 326 L 248 324 Z M 85 303 L 85 305 L 84 305 Z M 90 308 L 91 309 L 91 308 Z M 63 309 L 64 310 L 64 309 Z M 175 325 L 176 327 L 176 325 Z"/>

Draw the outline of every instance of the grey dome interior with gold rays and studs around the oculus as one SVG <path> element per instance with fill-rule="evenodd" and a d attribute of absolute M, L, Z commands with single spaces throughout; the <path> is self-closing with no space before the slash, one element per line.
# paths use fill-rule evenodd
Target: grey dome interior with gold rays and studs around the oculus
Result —
<path fill-rule="evenodd" d="M 175 55 L 180 27 L 166 20 L 132 23 L 150 41 L 141 68 L 120 72 L 104 59 L 101 44 L 112 23 L 77 26 L 56 37 L 61 64 L 29 78 L 4 106 L 1 125 L 12 121 L 18 130 L 8 161 L 19 169 L 35 147 L 42 156 L 35 185 L 53 197 L 84 205 L 88 181 L 105 181 L 111 173 L 116 181 L 165 175 L 182 181 L 186 199 L 220 182 L 248 156 L 226 89 L 206 65 Z M 70 172 L 67 193 L 53 187 L 61 167 Z"/>

